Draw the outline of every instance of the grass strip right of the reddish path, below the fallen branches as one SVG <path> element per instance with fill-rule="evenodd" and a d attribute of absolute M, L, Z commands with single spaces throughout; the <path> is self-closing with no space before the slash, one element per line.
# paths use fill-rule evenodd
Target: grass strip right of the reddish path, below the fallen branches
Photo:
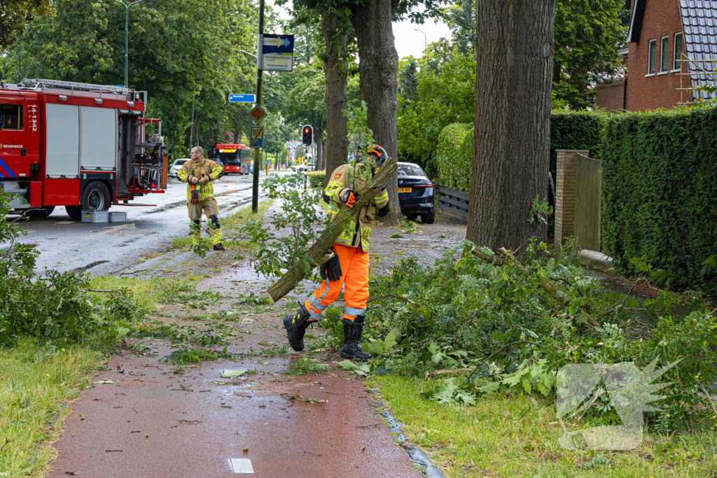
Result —
<path fill-rule="evenodd" d="M 409 440 L 452 477 L 714 477 L 717 434 L 645 434 L 631 451 L 563 449 L 554 401 L 493 394 L 476 406 L 442 405 L 419 395 L 435 381 L 405 376 L 372 379 Z M 668 444 L 669 446 L 665 446 Z M 663 449 L 659 459 L 657 446 Z"/>

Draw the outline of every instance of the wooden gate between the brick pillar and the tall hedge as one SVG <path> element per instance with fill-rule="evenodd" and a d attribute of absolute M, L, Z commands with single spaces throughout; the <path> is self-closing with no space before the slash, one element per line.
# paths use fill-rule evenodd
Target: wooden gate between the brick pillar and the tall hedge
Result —
<path fill-rule="evenodd" d="M 600 250 L 602 161 L 577 153 L 575 168 L 575 229 L 580 247 Z"/>

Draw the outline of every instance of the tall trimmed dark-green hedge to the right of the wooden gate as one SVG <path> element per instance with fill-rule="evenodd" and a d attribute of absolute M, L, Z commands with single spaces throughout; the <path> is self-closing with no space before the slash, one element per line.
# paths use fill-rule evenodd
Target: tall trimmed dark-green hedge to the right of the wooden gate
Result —
<path fill-rule="evenodd" d="M 715 292 L 716 264 L 703 262 L 717 254 L 717 108 L 613 115 L 605 139 L 605 252 Z"/>

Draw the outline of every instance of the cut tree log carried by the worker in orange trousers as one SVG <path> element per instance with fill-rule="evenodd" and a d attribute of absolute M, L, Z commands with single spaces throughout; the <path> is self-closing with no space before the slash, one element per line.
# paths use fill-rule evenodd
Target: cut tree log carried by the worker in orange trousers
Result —
<path fill-rule="evenodd" d="M 321 236 L 316 242 L 314 242 L 313 246 L 311 246 L 306 253 L 309 264 L 315 266 L 315 264 L 320 263 L 320 260 L 326 255 L 328 249 L 330 249 L 331 246 L 333 246 L 333 243 L 336 242 L 338 236 L 341 236 L 341 231 L 343 231 L 344 228 L 344 221 L 346 221 L 349 216 L 353 216 L 353 219 L 358 218 L 361 213 L 361 209 L 369 204 L 369 201 L 372 201 L 376 197 L 376 194 L 381 192 L 381 189 L 386 186 L 386 183 L 389 182 L 389 179 L 391 179 L 397 170 L 398 164 L 396 160 L 394 158 L 387 159 L 383 166 L 381 166 L 379 173 L 374 176 L 372 181 L 373 186 L 370 188 L 367 187 L 364 191 L 359 191 L 359 200 L 356 201 L 353 208 L 341 208 L 341 211 L 336 214 L 336 217 L 333 218 L 331 224 L 324 229 Z M 398 207 L 398 204 L 392 204 L 391 206 Z M 291 290 L 293 290 L 293 288 L 306 277 L 307 272 L 305 262 L 297 262 L 290 267 L 286 274 L 282 275 L 282 277 L 280 277 L 274 285 L 267 289 L 267 295 L 273 303 L 276 303 L 277 300 L 280 300 L 282 297 L 291 292 Z"/>

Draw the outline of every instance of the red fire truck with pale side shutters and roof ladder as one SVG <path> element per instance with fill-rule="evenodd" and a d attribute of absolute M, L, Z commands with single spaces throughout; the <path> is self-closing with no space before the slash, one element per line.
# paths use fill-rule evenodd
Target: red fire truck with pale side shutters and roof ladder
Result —
<path fill-rule="evenodd" d="M 166 189 L 161 121 L 143 92 L 54 80 L 0 82 L 0 190 L 11 213 L 44 217 L 128 204 Z M 158 133 L 147 135 L 147 125 Z"/>

